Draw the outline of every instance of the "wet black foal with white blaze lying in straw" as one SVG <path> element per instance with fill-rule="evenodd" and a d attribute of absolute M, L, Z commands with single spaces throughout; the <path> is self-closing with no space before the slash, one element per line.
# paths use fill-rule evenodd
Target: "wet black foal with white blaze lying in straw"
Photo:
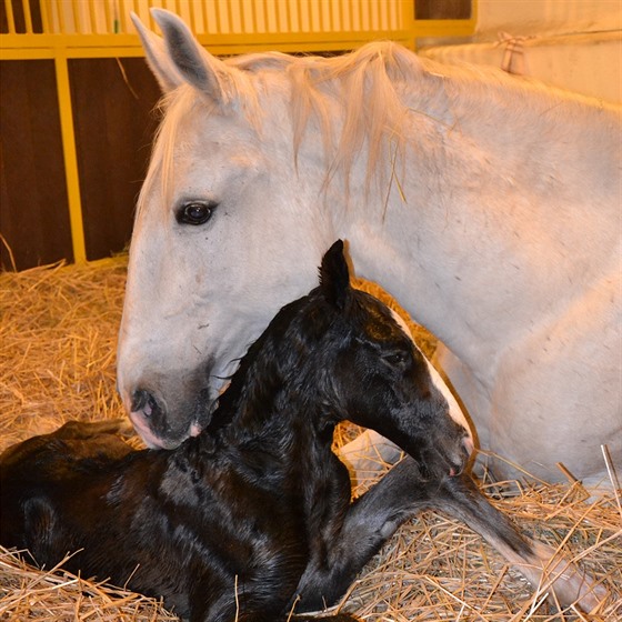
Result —
<path fill-rule="evenodd" d="M 355 502 L 331 451 L 344 419 L 410 454 Z M 69 570 L 210 622 L 284 622 L 294 603 L 334 603 L 422 506 L 460 515 L 513 561 L 540 561 L 463 472 L 466 429 L 391 312 L 350 287 L 341 243 L 320 287 L 251 347 L 199 437 L 132 451 L 104 433 L 113 425 L 68 423 L 0 457 L 4 546 L 48 568 L 79 551 Z"/>

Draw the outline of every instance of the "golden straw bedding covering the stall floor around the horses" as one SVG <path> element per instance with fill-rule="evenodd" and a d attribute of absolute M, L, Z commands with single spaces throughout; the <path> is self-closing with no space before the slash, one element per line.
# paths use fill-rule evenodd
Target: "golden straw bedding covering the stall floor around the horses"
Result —
<path fill-rule="evenodd" d="M 0 274 L 0 451 L 70 419 L 124 417 L 114 390 L 114 357 L 126 268 L 121 257 Z M 430 353 L 433 339 L 419 329 L 417 334 Z M 594 500 L 580 483 L 484 481 L 482 486 L 524 530 L 563 545 L 602 581 L 611 595 L 601 611 L 580 615 L 543 603 L 543 594 L 480 536 L 432 512 L 399 531 L 352 585 L 344 606 L 369 622 L 622 619 L 619 491 Z M 0 620 L 177 618 L 157 601 L 62 568 L 37 570 L 0 549 Z"/>

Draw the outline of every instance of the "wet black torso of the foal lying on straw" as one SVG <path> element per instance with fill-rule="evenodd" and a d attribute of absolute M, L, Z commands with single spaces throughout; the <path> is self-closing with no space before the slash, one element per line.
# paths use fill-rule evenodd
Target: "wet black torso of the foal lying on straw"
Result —
<path fill-rule="evenodd" d="M 2 543 L 28 548 L 46 565 L 80 551 L 66 568 L 164 595 L 167 606 L 192 620 L 232 622 L 237 603 L 241 620 L 279 620 L 308 563 L 309 535 L 322 533 L 327 513 L 345 512 L 350 490 L 330 447 L 309 451 L 307 431 L 289 433 L 290 424 L 282 420 L 278 437 L 268 424 L 234 439 L 233 425 L 172 452 L 130 452 L 97 424 L 70 423 L 43 438 L 42 451 L 24 444 L 19 478 L 13 466 L 12 482 L 2 480 Z M 88 434 L 90 441 L 76 439 Z M 261 449 L 249 449 L 253 443 Z M 83 460 L 84 445 L 106 458 Z M 32 468 L 42 457 L 53 460 L 47 479 Z M 24 490 L 20 525 L 11 512 L 21 508 L 4 501 L 23 499 Z M 13 525 L 24 530 L 17 540 Z"/>

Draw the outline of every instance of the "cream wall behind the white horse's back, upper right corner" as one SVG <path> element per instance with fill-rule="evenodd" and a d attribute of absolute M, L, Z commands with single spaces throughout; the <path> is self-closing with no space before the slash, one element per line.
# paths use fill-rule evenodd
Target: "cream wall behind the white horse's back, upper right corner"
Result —
<path fill-rule="evenodd" d="M 480 0 L 473 43 L 421 53 L 492 64 L 605 101 L 622 102 L 622 0 Z M 500 32 L 514 38 L 513 54 Z"/>

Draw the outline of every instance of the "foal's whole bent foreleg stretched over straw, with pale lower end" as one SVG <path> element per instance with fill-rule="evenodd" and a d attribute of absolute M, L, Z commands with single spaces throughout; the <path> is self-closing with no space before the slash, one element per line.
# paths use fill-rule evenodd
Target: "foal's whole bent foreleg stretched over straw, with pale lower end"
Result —
<path fill-rule="evenodd" d="M 327 559 L 309 564 L 297 592 L 301 611 L 334 604 L 357 574 L 419 511 L 434 508 L 462 521 L 482 535 L 542 592 L 553 591 L 562 605 L 584 611 L 598 606 L 606 591 L 550 546 L 522 535 L 492 506 L 469 474 L 427 482 L 407 457 L 375 486 L 352 503 L 335 531 Z"/>

